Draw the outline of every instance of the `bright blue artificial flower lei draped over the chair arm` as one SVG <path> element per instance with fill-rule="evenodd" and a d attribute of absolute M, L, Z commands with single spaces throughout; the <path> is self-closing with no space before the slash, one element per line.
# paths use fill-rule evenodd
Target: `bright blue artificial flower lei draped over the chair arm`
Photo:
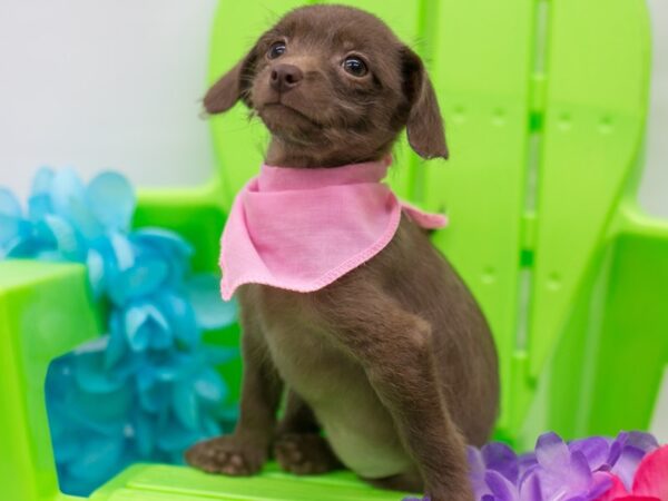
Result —
<path fill-rule="evenodd" d="M 137 461 L 180 463 L 193 443 L 227 432 L 237 410 L 216 366 L 235 348 L 202 343 L 232 325 L 213 275 L 189 269 L 177 234 L 130 229 L 136 196 L 104 173 L 85 185 L 71 169 L 42 168 L 23 212 L 0 187 L 0 259 L 82 263 L 108 305 L 107 333 L 55 360 L 47 410 L 60 488 L 88 495 Z"/>

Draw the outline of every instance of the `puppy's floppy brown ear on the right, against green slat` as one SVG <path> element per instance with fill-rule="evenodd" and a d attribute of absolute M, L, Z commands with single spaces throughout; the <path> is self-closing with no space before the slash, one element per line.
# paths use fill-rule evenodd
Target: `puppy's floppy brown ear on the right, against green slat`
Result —
<path fill-rule="evenodd" d="M 406 121 L 409 144 L 422 158 L 448 158 L 445 130 L 434 88 L 420 56 L 401 49 L 404 94 L 410 111 Z"/>

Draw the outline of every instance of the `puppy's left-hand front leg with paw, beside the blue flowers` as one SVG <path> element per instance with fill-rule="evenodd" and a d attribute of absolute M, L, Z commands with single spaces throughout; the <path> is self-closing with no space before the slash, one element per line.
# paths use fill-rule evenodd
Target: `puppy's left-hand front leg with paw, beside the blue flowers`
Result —
<path fill-rule="evenodd" d="M 283 384 L 255 322 L 242 317 L 244 372 L 239 420 L 230 435 L 199 442 L 186 451 L 188 464 L 209 473 L 250 475 L 267 460 Z"/>

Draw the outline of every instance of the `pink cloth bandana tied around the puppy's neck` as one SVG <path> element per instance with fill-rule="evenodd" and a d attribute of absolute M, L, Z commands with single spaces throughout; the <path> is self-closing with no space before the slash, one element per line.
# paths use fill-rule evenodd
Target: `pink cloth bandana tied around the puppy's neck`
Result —
<path fill-rule="evenodd" d="M 445 226 L 445 216 L 400 202 L 381 183 L 389 166 L 263 165 L 237 195 L 223 232 L 223 298 L 249 283 L 302 293 L 323 288 L 380 253 L 402 209 L 423 228 Z"/>

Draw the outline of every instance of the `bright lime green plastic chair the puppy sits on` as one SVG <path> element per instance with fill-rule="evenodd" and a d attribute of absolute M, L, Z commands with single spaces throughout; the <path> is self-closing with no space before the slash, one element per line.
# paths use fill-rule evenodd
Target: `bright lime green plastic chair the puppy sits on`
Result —
<path fill-rule="evenodd" d="M 209 82 L 284 11 L 304 2 L 222 1 Z M 423 163 L 403 143 L 391 183 L 445 209 L 434 243 L 492 325 L 503 383 L 497 438 L 519 449 L 647 429 L 668 365 L 668 223 L 644 214 L 650 67 L 642 0 L 361 0 L 423 56 L 452 159 Z M 215 269 L 234 194 L 257 170 L 261 124 L 238 106 L 212 120 L 219 169 L 196 189 L 144 191 L 136 225 L 180 232 Z M 67 294 L 63 294 L 63 291 Z M 85 269 L 0 263 L 0 487 L 11 501 L 59 493 L 45 409 L 51 360 L 98 335 Z M 215 338 L 236 344 L 238 331 Z M 226 376 L 237 385 L 238 365 Z M 237 395 L 232 395 L 237 399 Z M 340 472 L 249 479 L 135 465 L 92 500 L 396 500 Z"/>

